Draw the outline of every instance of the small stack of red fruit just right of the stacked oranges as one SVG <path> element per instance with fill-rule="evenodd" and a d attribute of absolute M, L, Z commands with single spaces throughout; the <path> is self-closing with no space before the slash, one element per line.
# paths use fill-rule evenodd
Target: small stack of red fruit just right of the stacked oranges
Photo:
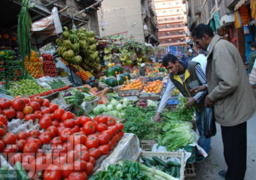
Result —
<path fill-rule="evenodd" d="M 43 71 L 46 76 L 57 77 L 56 65 L 53 62 L 53 56 L 51 54 L 42 54 L 43 57 Z"/>

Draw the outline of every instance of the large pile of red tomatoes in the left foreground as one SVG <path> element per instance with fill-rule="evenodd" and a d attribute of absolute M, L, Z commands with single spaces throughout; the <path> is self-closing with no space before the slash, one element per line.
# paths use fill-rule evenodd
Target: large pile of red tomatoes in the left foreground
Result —
<path fill-rule="evenodd" d="M 16 97 L 0 99 L 0 152 L 11 165 L 21 162 L 31 179 L 43 171 L 43 179 L 87 179 L 95 160 L 108 154 L 123 137 L 123 124 L 114 118 L 75 117 L 69 111 L 49 103 L 48 99 Z M 8 120 L 39 119 L 45 131 L 30 130 L 14 135 L 7 132 Z M 45 153 L 42 145 L 51 149 Z"/>

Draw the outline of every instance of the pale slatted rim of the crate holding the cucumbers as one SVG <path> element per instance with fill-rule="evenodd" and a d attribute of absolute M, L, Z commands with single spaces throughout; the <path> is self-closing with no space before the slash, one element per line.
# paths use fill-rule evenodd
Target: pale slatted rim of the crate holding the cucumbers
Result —
<path fill-rule="evenodd" d="M 177 153 L 177 152 L 168 152 L 168 153 L 160 153 L 160 152 L 145 152 L 145 151 L 139 151 L 139 153 L 137 153 L 135 155 L 134 161 L 140 161 L 140 157 L 144 156 L 146 158 L 152 157 L 152 156 L 156 156 L 158 158 L 161 158 L 161 160 L 167 160 L 169 158 L 179 158 L 179 160 L 181 161 L 181 170 L 180 170 L 180 178 L 181 180 L 183 180 L 184 177 L 184 152 L 181 153 Z"/>

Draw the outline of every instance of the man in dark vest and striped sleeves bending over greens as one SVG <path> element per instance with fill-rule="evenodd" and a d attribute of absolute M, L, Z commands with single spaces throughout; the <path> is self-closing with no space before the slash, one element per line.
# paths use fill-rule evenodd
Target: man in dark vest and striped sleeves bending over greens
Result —
<path fill-rule="evenodd" d="M 203 73 L 200 63 L 192 61 L 180 62 L 173 54 L 167 54 L 163 57 L 163 66 L 169 71 L 169 78 L 167 87 L 163 96 L 161 97 L 158 110 L 154 116 L 154 121 L 160 120 L 160 115 L 167 103 L 167 100 L 171 97 L 171 94 L 175 87 L 179 89 L 181 94 L 188 99 L 188 106 L 194 105 L 196 109 L 196 124 L 200 132 L 199 145 L 203 148 L 205 153 L 209 154 L 211 149 L 211 138 L 206 138 L 203 135 L 203 120 L 204 120 L 204 101 L 207 94 L 207 90 L 204 92 L 190 92 L 193 88 L 200 84 L 207 84 L 205 73 Z M 198 153 L 197 161 L 202 162 L 204 159 L 202 154 Z"/>

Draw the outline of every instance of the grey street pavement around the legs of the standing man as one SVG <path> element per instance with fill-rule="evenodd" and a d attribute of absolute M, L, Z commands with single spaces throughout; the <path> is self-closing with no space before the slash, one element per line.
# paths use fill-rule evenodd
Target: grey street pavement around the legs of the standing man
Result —
<path fill-rule="evenodd" d="M 247 171 L 244 180 L 256 179 L 256 119 L 247 121 Z M 211 139 L 211 153 L 201 163 L 194 164 L 196 177 L 186 177 L 186 180 L 224 180 L 219 171 L 226 170 L 223 156 L 223 141 L 221 126 L 217 124 L 217 134 Z"/>

